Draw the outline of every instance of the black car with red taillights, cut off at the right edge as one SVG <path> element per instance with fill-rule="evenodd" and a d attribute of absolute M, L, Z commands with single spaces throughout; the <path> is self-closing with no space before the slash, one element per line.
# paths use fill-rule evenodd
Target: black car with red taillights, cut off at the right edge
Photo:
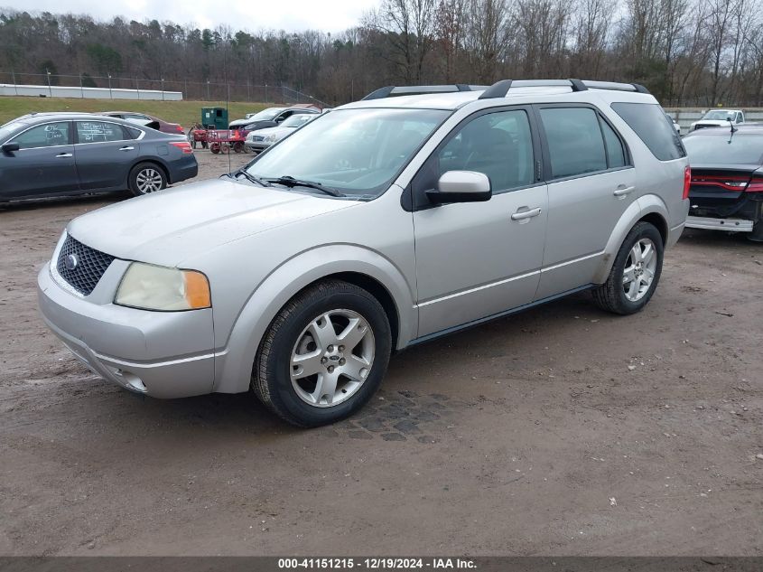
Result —
<path fill-rule="evenodd" d="M 686 226 L 763 241 L 763 125 L 706 127 L 683 142 L 692 166 Z"/>

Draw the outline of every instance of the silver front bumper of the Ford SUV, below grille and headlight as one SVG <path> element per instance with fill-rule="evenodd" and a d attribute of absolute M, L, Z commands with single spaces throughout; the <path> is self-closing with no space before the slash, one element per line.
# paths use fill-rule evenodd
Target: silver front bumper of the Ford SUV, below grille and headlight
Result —
<path fill-rule="evenodd" d="M 90 370 L 125 389 L 162 399 L 209 393 L 215 377 L 212 310 L 149 312 L 104 303 L 104 290 L 116 290 L 122 274 L 111 270 L 93 294 L 78 296 L 52 277 L 50 263 L 42 267 L 38 299 L 52 332 Z"/>

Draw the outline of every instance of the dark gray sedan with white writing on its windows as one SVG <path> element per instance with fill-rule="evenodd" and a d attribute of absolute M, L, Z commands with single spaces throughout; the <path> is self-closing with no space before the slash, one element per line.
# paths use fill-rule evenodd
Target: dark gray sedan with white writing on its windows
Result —
<path fill-rule="evenodd" d="M 0 202 L 160 191 L 199 172 L 184 136 L 122 119 L 39 113 L 0 127 Z"/>

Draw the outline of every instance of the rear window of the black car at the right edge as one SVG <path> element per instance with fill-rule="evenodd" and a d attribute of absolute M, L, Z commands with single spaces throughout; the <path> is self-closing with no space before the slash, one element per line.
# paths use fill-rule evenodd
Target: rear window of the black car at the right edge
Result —
<path fill-rule="evenodd" d="M 684 147 L 690 164 L 763 164 L 763 135 L 690 136 Z"/>

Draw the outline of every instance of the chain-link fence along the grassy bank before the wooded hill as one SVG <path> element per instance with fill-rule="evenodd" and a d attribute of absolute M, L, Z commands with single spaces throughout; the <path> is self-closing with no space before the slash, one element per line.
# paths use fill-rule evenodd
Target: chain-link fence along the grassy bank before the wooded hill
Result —
<path fill-rule="evenodd" d="M 14 87 L 18 92 L 18 86 L 31 85 L 48 89 L 49 97 L 56 97 L 57 87 L 69 88 L 67 95 L 63 97 L 82 98 L 114 98 L 120 99 L 123 94 L 120 89 L 134 90 L 135 96 L 131 99 L 140 99 L 141 92 L 144 98 L 151 92 L 151 99 L 162 99 L 163 94 L 179 92 L 181 98 L 197 101 L 255 101 L 263 103 L 284 103 L 293 105 L 296 103 L 314 103 L 321 107 L 330 107 L 329 104 L 297 89 L 284 85 L 254 85 L 246 83 L 232 83 L 219 81 L 188 81 L 174 79 L 144 80 L 141 78 L 125 78 L 111 75 L 91 76 L 87 73 L 72 75 L 59 73 L 18 73 L 15 71 L 0 71 L 0 84 L 6 84 L 5 95 L 14 95 Z M 89 89 L 98 88 L 98 96 L 92 95 Z M 78 94 L 79 90 L 79 94 Z M 10 93 L 9 93 L 10 92 Z M 21 95 L 21 93 L 19 93 Z"/>

